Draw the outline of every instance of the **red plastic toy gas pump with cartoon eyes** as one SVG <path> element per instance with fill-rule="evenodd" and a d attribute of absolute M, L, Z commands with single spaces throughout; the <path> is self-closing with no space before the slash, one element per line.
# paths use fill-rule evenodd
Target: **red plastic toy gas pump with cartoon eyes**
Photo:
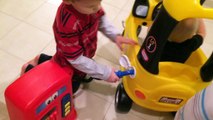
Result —
<path fill-rule="evenodd" d="M 75 120 L 71 76 L 53 61 L 22 75 L 5 91 L 10 119 Z"/>

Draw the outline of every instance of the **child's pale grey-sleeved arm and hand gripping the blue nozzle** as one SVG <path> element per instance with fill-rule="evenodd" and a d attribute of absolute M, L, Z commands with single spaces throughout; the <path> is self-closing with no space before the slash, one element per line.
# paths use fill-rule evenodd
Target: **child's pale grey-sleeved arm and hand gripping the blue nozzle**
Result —
<path fill-rule="evenodd" d="M 116 82 L 119 78 L 115 75 L 114 69 L 109 66 L 96 63 L 94 60 L 80 55 L 75 60 L 68 60 L 72 66 L 90 77 L 106 80 L 108 82 Z"/>

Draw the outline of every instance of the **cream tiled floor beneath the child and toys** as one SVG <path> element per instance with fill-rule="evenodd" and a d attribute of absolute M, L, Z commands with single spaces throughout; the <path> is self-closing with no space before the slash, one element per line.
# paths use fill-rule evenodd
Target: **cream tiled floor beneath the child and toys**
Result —
<path fill-rule="evenodd" d="M 53 54 L 55 43 L 52 23 L 61 0 L 0 0 L 0 120 L 8 120 L 4 90 L 18 76 L 22 64 L 44 52 Z M 103 7 L 113 24 L 123 30 L 121 21 L 129 15 L 134 0 L 103 0 Z M 207 0 L 206 7 L 213 6 Z M 207 37 L 202 49 L 209 56 L 213 51 L 213 21 L 205 20 Z M 119 68 L 120 52 L 107 38 L 99 34 L 95 59 Z M 108 46 L 111 46 L 109 49 Z M 79 120 L 172 120 L 161 113 L 133 105 L 128 114 L 114 110 L 117 84 L 94 81 L 82 86 L 75 99 Z"/>

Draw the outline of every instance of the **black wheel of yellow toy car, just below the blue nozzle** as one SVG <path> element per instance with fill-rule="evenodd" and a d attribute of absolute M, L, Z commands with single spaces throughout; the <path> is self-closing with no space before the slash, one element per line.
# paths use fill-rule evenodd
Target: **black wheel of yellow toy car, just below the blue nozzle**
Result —
<path fill-rule="evenodd" d="M 132 107 L 132 100 L 126 94 L 124 86 L 120 83 L 115 94 L 115 109 L 119 113 L 127 113 Z"/>

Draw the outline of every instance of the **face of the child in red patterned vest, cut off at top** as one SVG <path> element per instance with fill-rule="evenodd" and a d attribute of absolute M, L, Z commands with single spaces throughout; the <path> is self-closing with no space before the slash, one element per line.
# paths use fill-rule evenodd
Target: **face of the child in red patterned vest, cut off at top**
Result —
<path fill-rule="evenodd" d="M 73 7 L 83 14 L 96 13 L 101 8 L 101 0 L 75 0 Z"/>

